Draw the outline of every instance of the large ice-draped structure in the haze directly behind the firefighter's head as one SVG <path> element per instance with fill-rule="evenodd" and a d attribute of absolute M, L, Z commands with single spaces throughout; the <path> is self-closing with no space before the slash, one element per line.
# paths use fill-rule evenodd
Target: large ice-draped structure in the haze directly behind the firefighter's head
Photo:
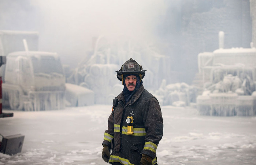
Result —
<path fill-rule="evenodd" d="M 68 83 L 87 87 L 94 91 L 94 103 L 109 104 L 123 90 L 122 83 L 116 78 L 116 72 L 128 59 L 133 58 L 146 70 L 144 86 L 157 90 L 168 72 L 169 58 L 161 55 L 154 47 L 134 40 L 108 42 L 100 36 L 93 44 L 93 52 L 88 54 L 73 74 L 67 78 Z M 160 74 L 163 72 L 163 74 Z"/>

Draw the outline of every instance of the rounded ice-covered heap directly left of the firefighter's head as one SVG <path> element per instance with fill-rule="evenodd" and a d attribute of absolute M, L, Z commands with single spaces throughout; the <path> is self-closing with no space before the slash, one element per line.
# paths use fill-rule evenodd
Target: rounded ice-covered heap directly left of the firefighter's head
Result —
<path fill-rule="evenodd" d="M 112 103 L 115 96 L 122 92 L 123 86 L 115 79 L 116 64 L 91 64 L 84 66 L 84 70 L 77 72 L 75 78 L 79 85 L 93 91 L 93 103 Z M 120 84 L 120 86 L 118 85 Z"/>

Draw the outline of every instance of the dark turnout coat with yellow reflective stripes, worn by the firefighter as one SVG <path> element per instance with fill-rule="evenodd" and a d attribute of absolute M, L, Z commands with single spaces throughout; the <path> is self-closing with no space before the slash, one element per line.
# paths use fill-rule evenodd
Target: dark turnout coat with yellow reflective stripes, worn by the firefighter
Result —
<path fill-rule="evenodd" d="M 117 99 L 114 119 L 111 114 L 102 143 L 112 150 L 109 163 L 139 165 L 141 154 L 147 154 L 153 158 L 152 164 L 157 165 L 156 149 L 163 136 L 163 117 L 159 102 L 143 85 L 126 104 L 123 92 Z M 127 134 L 125 121 L 130 115 L 134 119 L 132 135 Z"/>

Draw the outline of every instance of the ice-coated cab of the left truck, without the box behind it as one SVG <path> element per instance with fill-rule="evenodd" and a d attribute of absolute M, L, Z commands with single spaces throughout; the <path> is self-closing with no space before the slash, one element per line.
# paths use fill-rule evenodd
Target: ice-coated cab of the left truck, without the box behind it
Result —
<path fill-rule="evenodd" d="M 3 106 L 14 110 L 64 109 L 65 76 L 51 52 L 13 52 L 7 56 Z"/>

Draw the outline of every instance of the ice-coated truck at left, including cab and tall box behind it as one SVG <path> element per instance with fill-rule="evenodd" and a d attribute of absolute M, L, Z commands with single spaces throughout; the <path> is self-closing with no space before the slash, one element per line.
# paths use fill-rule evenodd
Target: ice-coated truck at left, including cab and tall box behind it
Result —
<path fill-rule="evenodd" d="M 3 107 L 40 111 L 64 109 L 65 75 L 59 55 L 38 51 L 38 32 L 0 31 Z"/>

